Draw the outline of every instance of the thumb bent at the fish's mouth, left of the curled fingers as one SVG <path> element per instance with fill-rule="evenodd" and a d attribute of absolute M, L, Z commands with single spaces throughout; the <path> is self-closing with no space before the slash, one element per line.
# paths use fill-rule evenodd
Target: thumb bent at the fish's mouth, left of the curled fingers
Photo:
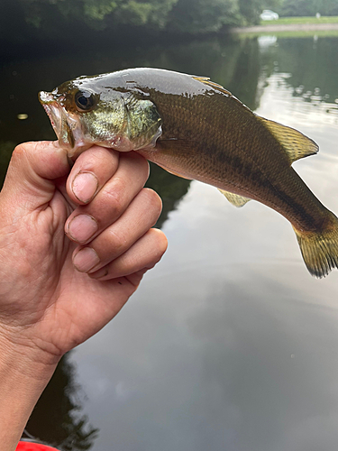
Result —
<path fill-rule="evenodd" d="M 69 170 L 67 152 L 58 143 L 19 144 L 12 154 L 1 196 L 14 207 L 35 210 L 50 202 L 54 180 L 66 176 Z"/>

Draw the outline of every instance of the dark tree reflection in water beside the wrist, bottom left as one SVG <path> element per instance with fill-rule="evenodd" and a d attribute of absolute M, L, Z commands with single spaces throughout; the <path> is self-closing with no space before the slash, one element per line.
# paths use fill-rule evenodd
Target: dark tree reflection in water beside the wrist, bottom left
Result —
<path fill-rule="evenodd" d="M 98 429 L 93 428 L 87 415 L 81 413 L 80 398 L 81 388 L 75 382 L 75 367 L 66 354 L 32 411 L 27 432 L 62 451 L 90 449 Z"/>

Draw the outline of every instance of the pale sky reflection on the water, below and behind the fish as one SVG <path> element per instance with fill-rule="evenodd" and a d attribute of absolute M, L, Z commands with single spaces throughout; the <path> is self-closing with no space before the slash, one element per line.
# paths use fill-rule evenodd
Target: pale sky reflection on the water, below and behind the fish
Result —
<path fill-rule="evenodd" d="M 337 129 L 325 97 L 337 92 L 319 78 L 319 103 L 296 96 L 280 45 L 259 53 L 257 111 L 320 144 L 295 166 L 337 212 Z M 160 266 L 74 356 L 101 427 L 97 450 L 333 451 L 337 272 L 315 281 L 281 216 L 254 202 L 236 210 L 196 182 L 163 229 L 169 253 Z"/>

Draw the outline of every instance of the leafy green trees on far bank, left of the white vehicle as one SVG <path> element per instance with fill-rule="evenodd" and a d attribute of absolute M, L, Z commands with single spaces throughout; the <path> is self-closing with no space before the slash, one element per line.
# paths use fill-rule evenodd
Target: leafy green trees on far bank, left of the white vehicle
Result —
<path fill-rule="evenodd" d="M 281 0 L 16 0 L 35 27 L 50 11 L 93 28 L 147 27 L 154 31 L 203 33 L 260 22 L 266 7 Z"/>

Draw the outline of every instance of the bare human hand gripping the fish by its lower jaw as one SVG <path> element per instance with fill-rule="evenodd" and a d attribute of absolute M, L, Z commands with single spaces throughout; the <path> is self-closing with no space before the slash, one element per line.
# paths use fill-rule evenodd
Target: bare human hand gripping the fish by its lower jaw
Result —
<path fill-rule="evenodd" d="M 0 193 L 0 345 L 23 372 L 54 366 L 104 327 L 160 260 L 148 173 L 140 155 L 98 146 L 70 173 L 56 143 L 14 151 Z"/>

